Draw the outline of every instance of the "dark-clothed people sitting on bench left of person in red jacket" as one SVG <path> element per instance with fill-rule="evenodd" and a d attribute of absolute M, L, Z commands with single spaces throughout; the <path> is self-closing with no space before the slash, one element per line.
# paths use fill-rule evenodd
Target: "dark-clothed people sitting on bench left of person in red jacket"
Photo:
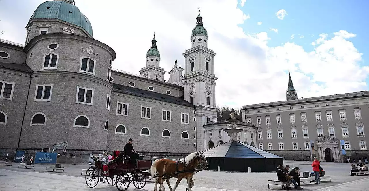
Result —
<path fill-rule="evenodd" d="M 290 184 L 292 183 L 297 190 L 301 190 L 303 188 L 300 187 L 300 169 L 299 167 L 295 167 L 289 172 L 290 166 L 279 165 L 277 168 L 277 177 L 281 182 L 286 183 L 284 190 L 291 190 Z"/>

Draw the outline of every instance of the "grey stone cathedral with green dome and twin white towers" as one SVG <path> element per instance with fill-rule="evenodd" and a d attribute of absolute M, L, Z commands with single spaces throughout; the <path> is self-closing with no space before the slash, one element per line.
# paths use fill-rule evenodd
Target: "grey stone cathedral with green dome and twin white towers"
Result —
<path fill-rule="evenodd" d="M 68 141 L 68 152 L 123 149 L 183 156 L 205 149 L 203 124 L 217 118 L 214 56 L 200 14 L 184 68 L 160 68 L 156 39 L 141 75 L 111 67 L 115 51 L 93 39 L 74 0 L 42 3 L 25 45 L 0 41 L 0 149 L 40 151 Z M 182 75 L 182 71 L 184 76 Z"/>

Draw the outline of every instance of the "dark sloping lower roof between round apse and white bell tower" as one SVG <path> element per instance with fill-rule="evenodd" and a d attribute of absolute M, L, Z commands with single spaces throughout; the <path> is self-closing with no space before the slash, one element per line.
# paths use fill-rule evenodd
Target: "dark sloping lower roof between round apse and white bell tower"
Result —
<path fill-rule="evenodd" d="M 165 101 L 165 102 L 169 102 L 173 104 L 185 105 L 185 106 L 189 106 L 193 108 L 195 107 L 193 104 L 184 100 L 183 98 L 174 97 L 174 96 L 161 94 L 161 93 L 156 93 L 156 92 L 148 91 L 148 90 L 142 90 L 142 89 L 138 89 L 138 88 L 134 88 L 130 86 L 123 86 L 123 85 L 115 84 L 115 83 L 111 83 L 111 84 L 113 85 L 113 91 L 115 92 L 136 95 L 139 97 L 145 97 L 149 99 Z"/>

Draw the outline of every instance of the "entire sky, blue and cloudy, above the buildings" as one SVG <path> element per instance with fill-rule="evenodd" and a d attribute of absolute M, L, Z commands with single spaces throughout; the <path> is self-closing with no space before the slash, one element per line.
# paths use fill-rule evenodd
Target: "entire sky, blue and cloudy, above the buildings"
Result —
<path fill-rule="evenodd" d="M 0 0 L 0 38 L 24 44 L 28 19 L 44 1 Z M 208 48 L 217 54 L 219 106 L 286 100 L 288 71 L 299 98 L 368 90 L 369 1 L 75 1 L 94 39 L 117 53 L 113 68 L 135 74 L 154 32 L 161 68 L 183 65 L 200 7 Z"/>

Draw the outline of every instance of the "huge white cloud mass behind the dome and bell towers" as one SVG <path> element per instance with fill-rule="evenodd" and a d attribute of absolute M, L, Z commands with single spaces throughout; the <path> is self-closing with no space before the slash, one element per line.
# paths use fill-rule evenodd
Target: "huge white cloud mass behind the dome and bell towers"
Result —
<path fill-rule="evenodd" d="M 239 27 L 247 16 L 237 8 L 236 0 L 218 0 L 213 4 L 208 2 L 188 0 L 158 3 L 151 0 L 142 4 L 140 1 L 99 3 L 79 0 L 76 5 L 89 18 L 94 38 L 111 46 L 117 53 L 113 68 L 136 74 L 146 65 L 146 51 L 150 48 L 154 31 L 161 54 L 160 66 L 167 72 L 174 66 L 175 60 L 178 60 L 178 65 L 184 66 L 182 53 L 191 47 L 190 36 L 196 22 L 197 8 L 202 7 L 201 16 L 209 36 L 208 48 L 217 53 L 214 65 L 215 76 L 218 77 L 218 105 L 241 107 L 285 100 L 287 69 L 290 69 L 294 86 L 301 97 L 367 89 L 365 79 L 369 69 L 359 65 L 362 53 L 348 41 L 352 33 L 342 30 L 332 38 L 321 34 L 314 41 L 312 51 L 290 42 L 269 47 L 271 39 L 268 31 L 245 34 Z M 22 6 L 13 6 L 14 10 L 7 17 L 1 17 L 0 29 L 7 26 L 2 38 L 24 43 L 26 30 L 23 25 L 37 6 L 28 6 L 31 8 L 27 11 L 18 10 L 24 8 Z M 96 14 L 96 10 L 100 10 L 101 14 Z M 21 18 L 21 26 L 12 26 L 18 23 L 14 19 L 23 12 L 29 15 Z M 122 19 L 117 24 L 114 18 Z M 107 32 L 109 35 L 106 35 Z M 168 80 L 169 75 L 166 74 L 165 78 Z"/>

